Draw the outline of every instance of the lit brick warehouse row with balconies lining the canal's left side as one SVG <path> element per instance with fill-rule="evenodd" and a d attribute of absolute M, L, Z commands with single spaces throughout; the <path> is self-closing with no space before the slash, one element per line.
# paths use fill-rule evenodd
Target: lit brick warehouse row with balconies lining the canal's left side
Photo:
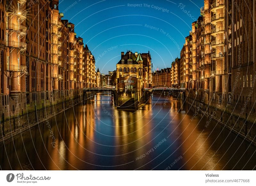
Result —
<path fill-rule="evenodd" d="M 62 19 L 58 4 L 58 0 L 0 3 L 1 120 L 35 106 L 52 108 L 83 88 L 96 86 L 94 57 L 76 37 L 75 25 Z"/>

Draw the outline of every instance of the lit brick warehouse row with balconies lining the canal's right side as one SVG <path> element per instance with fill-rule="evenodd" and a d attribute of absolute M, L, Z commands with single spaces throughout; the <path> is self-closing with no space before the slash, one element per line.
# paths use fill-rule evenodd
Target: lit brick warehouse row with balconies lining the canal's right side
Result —
<path fill-rule="evenodd" d="M 203 103 L 200 109 L 246 138 L 256 135 L 255 7 L 251 0 L 204 0 L 180 52 L 187 101 Z"/>

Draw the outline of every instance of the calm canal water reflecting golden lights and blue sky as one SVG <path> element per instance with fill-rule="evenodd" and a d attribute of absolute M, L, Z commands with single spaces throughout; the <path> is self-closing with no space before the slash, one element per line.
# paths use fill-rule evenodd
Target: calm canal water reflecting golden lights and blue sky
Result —
<path fill-rule="evenodd" d="M 206 117 L 191 121 L 180 100 L 154 95 L 131 112 L 111 99 L 97 94 L 2 144 L 1 169 L 255 169 L 255 146 L 216 122 L 205 127 Z"/>

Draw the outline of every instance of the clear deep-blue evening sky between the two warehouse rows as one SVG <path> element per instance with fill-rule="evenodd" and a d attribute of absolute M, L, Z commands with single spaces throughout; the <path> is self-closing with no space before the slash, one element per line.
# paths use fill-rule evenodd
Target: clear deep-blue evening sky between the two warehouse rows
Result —
<path fill-rule="evenodd" d="M 116 70 L 121 52 L 127 49 L 149 50 L 153 70 L 170 67 L 180 57 L 191 23 L 200 16 L 203 5 L 204 0 L 60 0 L 59 10 L 64 13 L 62 19 L 75 24 L 77 36 L 92 51 L 96 70 L 99 67 L 101 73 L 108 74 Z"/>

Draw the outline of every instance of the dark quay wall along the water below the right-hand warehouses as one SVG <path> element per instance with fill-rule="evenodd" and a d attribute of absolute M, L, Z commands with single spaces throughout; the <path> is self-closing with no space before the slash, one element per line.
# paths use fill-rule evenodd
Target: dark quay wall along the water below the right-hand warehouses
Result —
<path fill-rule="evenodd" d="M 205 128 L 207 128 L 211 121 L 214 120 L 228 130 L 239 135 L 244 140 L 250 142 L 252 145 L 256 146 L 256 126 L 251 121 L 252 118 L 244 118 L 233 112 L 233 108 L 225 107 L 216 100 L 212 100 L 211 104 L 207 103 L 208 95 L 194 95 L 189 93 L 188 96 L 181 95 L 183 101 L 189 104 L 189 108 L 192 110 L 194 115 L 205 115 L 208 117 L 208 121 L 205 122 Z M 209 102 L 209 101 L 208 101 Z"/>

